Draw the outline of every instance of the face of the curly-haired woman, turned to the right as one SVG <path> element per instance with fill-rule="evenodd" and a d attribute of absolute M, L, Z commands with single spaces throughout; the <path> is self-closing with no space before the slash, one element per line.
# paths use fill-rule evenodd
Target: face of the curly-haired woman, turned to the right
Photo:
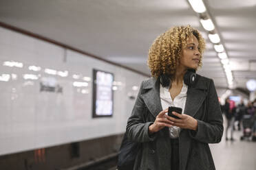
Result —
<path fill-rule="evenodd" d="M 185 69 L 198 69 L 200 62 L 200 52 L 198 51 L 198 39 L 193 35 L 186 41 L 186 47 L 182 49 L 180 66 Z"/>

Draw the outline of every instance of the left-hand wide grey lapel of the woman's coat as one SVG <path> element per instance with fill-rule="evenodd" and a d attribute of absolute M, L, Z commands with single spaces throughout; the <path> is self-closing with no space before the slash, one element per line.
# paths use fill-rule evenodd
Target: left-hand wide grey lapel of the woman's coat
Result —
<path fill-rule="evenodd" d="M 159 112 L 162 111 L 162 105 L 160 101 L 160 81 L 159 78 L 151 78 L 144 84 L 144 90 L 148 90 L 146 93 L 142 94 L 142 99 L 144 100 L 149 112 L 156 117 Z"/>

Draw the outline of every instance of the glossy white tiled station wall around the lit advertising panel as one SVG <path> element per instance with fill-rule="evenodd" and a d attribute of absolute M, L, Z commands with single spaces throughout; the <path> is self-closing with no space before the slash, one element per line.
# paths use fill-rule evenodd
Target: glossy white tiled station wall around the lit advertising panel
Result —
<path fill-rule="evenodd" d="M 122 83 L 114 90 L 113 117 L 92 118 L 93 69 L 114 73 L 114 81 Z M 135 101 L 128 94 L 136 96 L 132 87 L 146 78 L 0 27 L 0 155 L 124 132 Z M 88 86 L 73 86 L 74 81 Z M 62 90 L 41 91 L 41 82 Z"/>

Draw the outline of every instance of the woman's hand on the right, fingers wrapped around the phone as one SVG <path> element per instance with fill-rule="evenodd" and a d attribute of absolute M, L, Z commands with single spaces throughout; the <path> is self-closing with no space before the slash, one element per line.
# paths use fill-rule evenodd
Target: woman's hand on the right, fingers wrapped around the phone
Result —
<path fill-rule="evenodd" d="M 183 129 L 198 130 L 198 121 L 193 117 L 188 114 L 178 114 L 177 112 L 173 112 L 173 114 L 180 119 L 175 119 L 166 115 L 167 119 L 172 122 L 171 125 L 175 125 Z"/>

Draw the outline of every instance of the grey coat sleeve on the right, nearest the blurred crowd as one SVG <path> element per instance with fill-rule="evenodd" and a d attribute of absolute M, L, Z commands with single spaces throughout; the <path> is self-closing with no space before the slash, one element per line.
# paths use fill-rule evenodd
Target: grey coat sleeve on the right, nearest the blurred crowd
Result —
<path fill-rule="evenodd" d="M 210 82 L 209 93 L 206 99 L 206 121 L 198 120 L 198 130 L 189 130 L 192 138 L 202 143 L 220 143 L 223 134 L 223 117 L 220 110 L 220 103 L 213 83 Z"/>

